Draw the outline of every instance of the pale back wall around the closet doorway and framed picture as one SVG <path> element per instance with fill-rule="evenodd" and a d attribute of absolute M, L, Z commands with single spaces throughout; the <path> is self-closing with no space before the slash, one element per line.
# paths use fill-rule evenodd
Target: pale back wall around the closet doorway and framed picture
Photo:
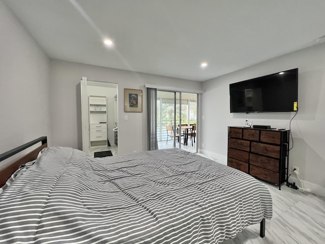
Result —
<path fill-rule="evenodd" d="M 82 149 L 80 79 L 118 84 L 118 154 L 147 148 L 145 84 L 201 89 L 201 82 L 123 71 L 51 59 L 53 144 Z M 124 88 L 142 89 L 142 113 L 124 113 Z M 128 120 L 124 120 L 128 115 Z"/>

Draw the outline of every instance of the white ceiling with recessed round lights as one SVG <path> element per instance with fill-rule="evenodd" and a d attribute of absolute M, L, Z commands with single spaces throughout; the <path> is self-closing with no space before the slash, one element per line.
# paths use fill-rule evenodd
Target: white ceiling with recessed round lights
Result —
<path fill-rule="evenodd" d="M 51 58 L 197 81 L 325 35 L 323 0 L 1 1 Z"/>

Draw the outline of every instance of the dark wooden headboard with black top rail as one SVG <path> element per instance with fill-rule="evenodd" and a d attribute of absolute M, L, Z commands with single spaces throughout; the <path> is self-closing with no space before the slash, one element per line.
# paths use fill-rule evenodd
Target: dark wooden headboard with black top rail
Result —
<path fill-rule="evenodd" d="M 3 187 L 7 180 L 11 177 L 11 175 L 19 168 L 20 165 L 25 164 L 29 161 L 35 160 L 38 156 L 40 150 L 47 147 L 47 137 L 42 136 L 40 138 L 37 138 L 35 140 L 32 140 L 30 142 L 27 142 L 26 144 L 23 144 L 21 146 L 18 146 L 14 149 L 11 149 L 7 151 L 6 153 L 3 153 L 0 155 L 0 162 L 4 161 L 5 159 L 8 159 L 15 154 L 18 154 L 20 151 L 27 149 L 28 147 L 35 145 L 37 143 L 41 142 L 42 145 L 37 147 L 36 149 L 30 151 L 28 154 L 24 155 L 20 159 L 14 161 L 7 167 L 0 170 L 0 187 Z"/>

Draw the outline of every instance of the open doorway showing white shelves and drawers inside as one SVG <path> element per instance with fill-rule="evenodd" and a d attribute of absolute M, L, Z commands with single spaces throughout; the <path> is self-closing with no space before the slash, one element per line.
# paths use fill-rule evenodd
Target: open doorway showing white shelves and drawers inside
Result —
<path fill-rule="evenodd" d="M 82 150 L 92 157 L 118 154 L 117 84 L 81 82 Z"/>

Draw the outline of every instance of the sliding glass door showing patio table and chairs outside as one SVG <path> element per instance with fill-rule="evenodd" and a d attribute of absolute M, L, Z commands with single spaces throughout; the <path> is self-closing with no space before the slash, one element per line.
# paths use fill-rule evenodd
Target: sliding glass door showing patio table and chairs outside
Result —
<path fill-rule="evenodd" d="M 197 152 L 198 95 L 157 90 L 158 149 Z"/>

